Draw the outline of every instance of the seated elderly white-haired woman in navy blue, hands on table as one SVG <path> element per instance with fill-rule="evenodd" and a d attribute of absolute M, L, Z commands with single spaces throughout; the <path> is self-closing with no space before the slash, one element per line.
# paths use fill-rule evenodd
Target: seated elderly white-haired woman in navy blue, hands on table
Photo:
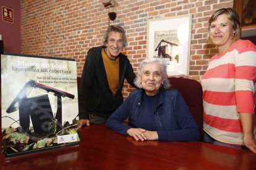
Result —
<path fill-rule="evenodd" d="M 169 89 L 164 59 L 145 59 L 135 79 L 139 89 L 117 108 L 106 125 L 135 140 L 195 141 L 197 124 L 181 93 Z M 129 118 L 129 124 L 122 122 Z"/>

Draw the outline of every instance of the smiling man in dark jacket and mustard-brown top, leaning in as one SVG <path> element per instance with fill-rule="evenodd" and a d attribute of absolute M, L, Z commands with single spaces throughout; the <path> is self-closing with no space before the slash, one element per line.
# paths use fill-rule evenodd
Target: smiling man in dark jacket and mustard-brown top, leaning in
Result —
<path fill-rule="evenodd" d="M 127 38 L 121 26 L 111 25 L 103 46 L 88 51 L 79 86 L 79 127 L 105 124 L 123 102 L 124 79 L 135 87 L 136 77 L 129 59 L 121 51 Z"/>

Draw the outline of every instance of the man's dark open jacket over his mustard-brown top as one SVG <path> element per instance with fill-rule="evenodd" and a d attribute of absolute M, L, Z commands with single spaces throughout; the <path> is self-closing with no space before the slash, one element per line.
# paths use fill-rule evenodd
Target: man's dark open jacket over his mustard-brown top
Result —
<path fill-rule="evenodd" d="M 135 87 L 136 77 L 129 59 L 119 54 L 119 87 L 113 96 L 101 55 L 105 46 L 93 47 L 88 51 L 79 85 L 79 119 L 88 119 L 88 114 L 108 118 L 123 102 L 124 79 Z"/>

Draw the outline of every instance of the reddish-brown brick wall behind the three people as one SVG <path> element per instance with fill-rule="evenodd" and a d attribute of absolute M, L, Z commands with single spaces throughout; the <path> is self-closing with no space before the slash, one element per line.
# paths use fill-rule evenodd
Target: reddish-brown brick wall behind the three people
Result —
<path fill-rule="evenodd" d="M 233 0 L 116 0 L 110 9 L 117 18 L 110 24 L 126 29 L 129 46 L 123 53 L 134 70 L 147 56 L 147 20 L 152 18 L 192 15 L 189 75 L 200 81 L 208 60 L 216 53 L 207 44 L 208 19 L 221 7 L 233 7 Z M 88 49 L 101 45 L 108 28 L 108 9 L 100 10 L 98 0 L 22 0 L 21 39 L 22 54 L 63 57 L 77 61 L 81 76 Z M 132 88 L 124 86 L 124 96 Z"/>

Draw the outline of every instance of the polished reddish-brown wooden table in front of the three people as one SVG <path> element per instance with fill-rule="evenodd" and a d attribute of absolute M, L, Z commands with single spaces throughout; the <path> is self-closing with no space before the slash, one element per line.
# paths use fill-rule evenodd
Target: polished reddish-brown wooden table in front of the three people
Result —
<path fill-rule="evenodd" d="M 249 150 L 203 142 L 137 142 L 105 126 L 80 129 L 80 145 L 8 161 L 1 169 L 256 169 Z"/>

